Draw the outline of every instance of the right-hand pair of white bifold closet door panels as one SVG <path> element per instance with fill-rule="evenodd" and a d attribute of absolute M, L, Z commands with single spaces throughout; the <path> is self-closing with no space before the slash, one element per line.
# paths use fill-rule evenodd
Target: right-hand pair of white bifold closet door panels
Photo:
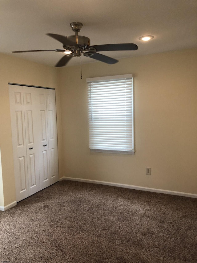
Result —
<path fill-rule="evenodd" d="M 58 145 L 55 91 L 36 88 L 38 98 L 40 189 L 57 182 Z"/>

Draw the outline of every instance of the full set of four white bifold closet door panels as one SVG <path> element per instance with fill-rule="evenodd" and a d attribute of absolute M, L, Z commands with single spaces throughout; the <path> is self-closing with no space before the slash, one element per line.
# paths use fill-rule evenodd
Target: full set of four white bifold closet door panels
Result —
<path fill-rule="evenodd" d="M 56 183 L 55 90 L 9 84 L 16 201 Z"/>

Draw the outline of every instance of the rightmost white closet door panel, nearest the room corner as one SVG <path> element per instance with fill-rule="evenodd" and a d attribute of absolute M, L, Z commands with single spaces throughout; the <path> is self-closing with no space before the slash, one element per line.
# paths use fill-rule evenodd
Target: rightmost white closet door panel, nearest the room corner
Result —
<path fill-rule="evenodd" d="M 59 181 L 57 121 L 56 121 L 56 104 L 55 104 L 54 89 L 46 90 L 46 107 L 47 107 L 47 119 L 48 119 L 50 184 L 53 184 Z"/>

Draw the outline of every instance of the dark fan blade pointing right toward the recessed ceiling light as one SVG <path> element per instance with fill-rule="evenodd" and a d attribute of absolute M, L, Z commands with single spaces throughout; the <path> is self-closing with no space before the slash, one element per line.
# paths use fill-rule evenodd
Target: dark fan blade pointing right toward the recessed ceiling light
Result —
<path fill-rule="evenodd" d="M 138 46 L 133 43 L 126 44 L 106 44 L 106 45 L 96 45 L 91 46 L 96 49 L 96 51 L 121 51 L 121 50 L 137 50 Z"/>

